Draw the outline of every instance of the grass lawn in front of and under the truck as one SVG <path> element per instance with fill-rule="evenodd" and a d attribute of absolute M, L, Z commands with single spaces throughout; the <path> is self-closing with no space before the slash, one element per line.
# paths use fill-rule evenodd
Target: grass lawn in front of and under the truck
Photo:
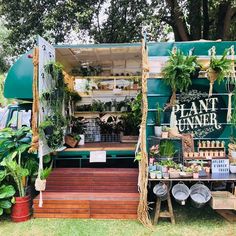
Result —
<path fill-rule="evenodd" d="M 2 236 L 41 235 L 190 235 L 190 236 L 236 236 L 236 223 L 229 224 L 210 207 L 196 209 L 174 205 L 176 225 L 162 220 L 153 231 L 137 221 L 131 220 L 80 220 L 80 219 L 32 219 L 24 223 L 12 223 L 9 219 L 0 221 Z"/>

